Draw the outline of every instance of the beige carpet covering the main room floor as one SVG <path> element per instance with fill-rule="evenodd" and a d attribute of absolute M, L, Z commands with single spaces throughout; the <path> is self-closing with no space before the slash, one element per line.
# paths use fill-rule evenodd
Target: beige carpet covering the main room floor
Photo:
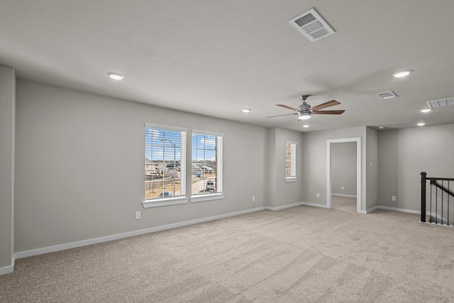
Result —
<path fill-rule="evenodd" d="M 0 276 L 0 302 L 454 302 L 454 228 L 345 207 L 258 211 L 19 259 Z"/>

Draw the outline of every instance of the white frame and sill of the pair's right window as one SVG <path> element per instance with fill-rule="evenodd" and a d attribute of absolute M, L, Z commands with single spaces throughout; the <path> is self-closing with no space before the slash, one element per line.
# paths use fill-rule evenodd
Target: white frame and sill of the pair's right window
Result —
<path fill-rule="evenodd" d="M 209 131 L 192 130 L 192 136 L 216 136 L 216 192 L 212 194 L 191 194 L 191 202 L 204 202 L 210 200 L 223 199 L 223 133 L 212 133 Z M 192 152 L 191 152 L 191 167 L 192 167 Z M 191 189 L 192 192 L 192 189 Z"/>

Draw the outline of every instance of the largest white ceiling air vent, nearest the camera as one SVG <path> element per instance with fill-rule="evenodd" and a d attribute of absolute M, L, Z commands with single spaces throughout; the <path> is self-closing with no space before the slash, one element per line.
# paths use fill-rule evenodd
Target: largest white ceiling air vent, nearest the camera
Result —
<path fill-rule="evenodd" d="M 328 23 L 321 18 L 315 9 L 301 13 L 299 16 L 290 19 L 289 23 L 312 42 L 334 33 L 333 28 L 328 26 Z"/>

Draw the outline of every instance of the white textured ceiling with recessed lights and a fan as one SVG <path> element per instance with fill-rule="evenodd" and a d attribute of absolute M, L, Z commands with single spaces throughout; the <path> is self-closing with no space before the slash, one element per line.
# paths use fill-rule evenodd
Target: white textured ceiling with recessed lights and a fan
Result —
<path fill-rule="evenodd" d="M 336 31 L 315 42 L 288 22 L 313 7 Z M 437 125 L 454 123 L 454 106 L 420 110 L 454 97 L 453 14 L 449 0 L 8 0 L 0 63 L 21 79 L 265 127 Z M 402 69 L 414 72 L 391 77 Z M 376 96 L 390 90 L 399 97 Z M 265 119 L 292 114 L 275 104 L 297 107 L 300 94 L 345 113 Z"/>

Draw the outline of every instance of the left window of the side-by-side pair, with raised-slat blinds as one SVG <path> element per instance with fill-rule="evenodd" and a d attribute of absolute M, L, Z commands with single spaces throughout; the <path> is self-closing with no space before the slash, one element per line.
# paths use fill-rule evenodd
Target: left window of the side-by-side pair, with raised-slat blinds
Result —
<path fill-rule="evenodd" d="M 186 133 L 184 128 L 145 124 L 145 207 L 187 202 Z"/>

